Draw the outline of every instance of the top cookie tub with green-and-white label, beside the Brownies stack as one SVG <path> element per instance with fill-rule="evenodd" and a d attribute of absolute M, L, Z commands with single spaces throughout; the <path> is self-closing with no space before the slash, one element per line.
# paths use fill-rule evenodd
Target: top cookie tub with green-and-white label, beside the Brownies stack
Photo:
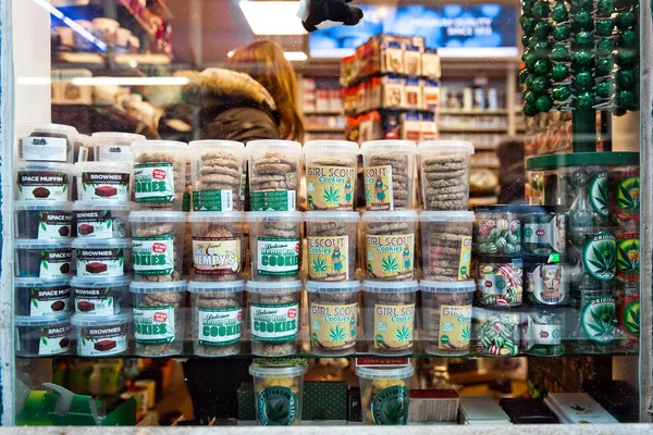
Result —
<path fill-rule="evenodd" d="M 183 210 L 186 153 L 184 142 L 137 140 L 132 144 L 134 198 L 140 210 Z"/>

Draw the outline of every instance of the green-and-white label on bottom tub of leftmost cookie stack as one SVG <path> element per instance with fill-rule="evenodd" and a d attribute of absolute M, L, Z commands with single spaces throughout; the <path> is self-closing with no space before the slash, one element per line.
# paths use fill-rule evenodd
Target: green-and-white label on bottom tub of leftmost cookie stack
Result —
<path fill-rule="evenodd" d="M 140 345 L 174 341 L 174 306 L 134 307 L 134 338 Z"/>

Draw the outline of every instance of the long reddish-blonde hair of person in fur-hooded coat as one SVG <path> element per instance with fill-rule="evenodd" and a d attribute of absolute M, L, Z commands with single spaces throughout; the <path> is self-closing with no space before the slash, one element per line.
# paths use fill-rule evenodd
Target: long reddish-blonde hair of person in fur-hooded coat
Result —
<path fill-rule="evenodd" d="M 226 65 L 231 70 L 248 74 L 268 89 L 281 115 L 282 138 L 304 140 L 304 123 L 295 103 L 297 77 L 279 45 L 259 41 L 239 47 L 227 59 Z"/>

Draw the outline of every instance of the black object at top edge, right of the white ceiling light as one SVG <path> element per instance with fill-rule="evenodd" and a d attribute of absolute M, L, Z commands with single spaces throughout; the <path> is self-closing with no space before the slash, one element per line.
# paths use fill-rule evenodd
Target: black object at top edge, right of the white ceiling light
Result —
<path fill-rule="evenodd" d="M 344 24 L 355 26 L 362 20 L 362 10 L 350 7 L 352 0 L 301 0 L 297 16 L 307 32 Z"/>

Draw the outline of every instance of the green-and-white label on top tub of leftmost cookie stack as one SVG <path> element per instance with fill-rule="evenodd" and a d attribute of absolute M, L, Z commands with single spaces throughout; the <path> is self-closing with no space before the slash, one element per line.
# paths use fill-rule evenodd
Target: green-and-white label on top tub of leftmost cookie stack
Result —
<path fill-rule="evenodd" d="M 173 202 L 174 170 L 172 163 L 134 165 L 136 202 Z"/>

